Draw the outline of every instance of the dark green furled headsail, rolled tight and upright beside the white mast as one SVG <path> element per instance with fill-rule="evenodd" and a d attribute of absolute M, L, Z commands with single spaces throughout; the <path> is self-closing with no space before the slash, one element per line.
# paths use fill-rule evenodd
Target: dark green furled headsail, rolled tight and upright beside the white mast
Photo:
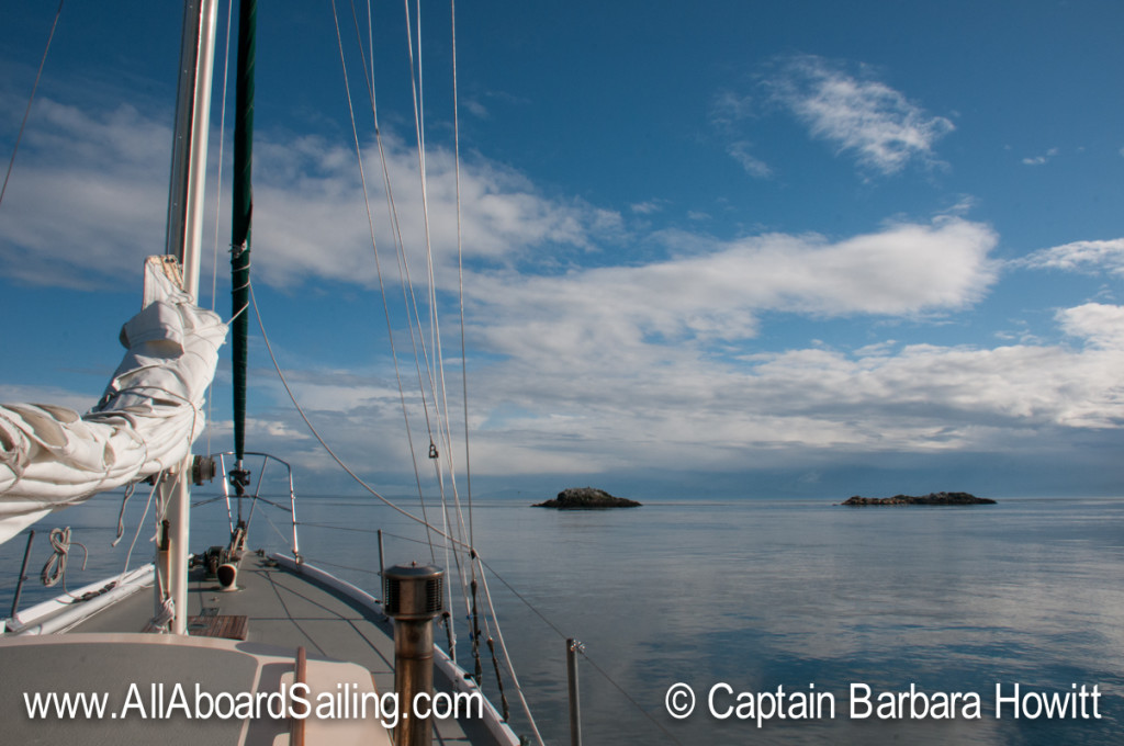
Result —
<path fill-rule="evenodd" d="M 245 488 L 250 483 L 250 473 L 243 466 L 243 457 L 246 449 L 250 226 L 254 210 L 251 166 L 254 133 L 254 29 L 256 22 L 256 0 L 242 0 L 238 7 L 238 67 L 234 124 L 234 212 L 230 229 L 235 452 L 235 467 L 230 472 L 230 484 L 239 497 L 245 493 Z M 238 512 L 241 518 L 241 501 Z"/>

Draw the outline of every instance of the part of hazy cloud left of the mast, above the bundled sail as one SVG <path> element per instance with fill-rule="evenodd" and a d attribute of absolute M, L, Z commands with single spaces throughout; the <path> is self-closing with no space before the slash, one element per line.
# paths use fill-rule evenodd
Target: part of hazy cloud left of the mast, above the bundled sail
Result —
<path fill-rule="evenodd" d="M 129 106 L 39 99 L 35 116 L 4 194 L 0 272 L 73 288 L 137 276 L 164 252 L 170 128 Z"/>

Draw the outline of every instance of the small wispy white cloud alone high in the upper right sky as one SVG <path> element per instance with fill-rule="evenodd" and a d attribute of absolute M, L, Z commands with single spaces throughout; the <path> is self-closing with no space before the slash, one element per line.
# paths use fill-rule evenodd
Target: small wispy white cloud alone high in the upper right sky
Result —
<path fill-rule="evenodd" d="M 955 127 L 927 115 L 900 92 L 869 76 L 855 78 L 828 61 L 790 58 L 770 81 L 773 95 L 801 119 L 816 137 L 883 174 L 917 160 L 934 163 L 933 146 Z"/>

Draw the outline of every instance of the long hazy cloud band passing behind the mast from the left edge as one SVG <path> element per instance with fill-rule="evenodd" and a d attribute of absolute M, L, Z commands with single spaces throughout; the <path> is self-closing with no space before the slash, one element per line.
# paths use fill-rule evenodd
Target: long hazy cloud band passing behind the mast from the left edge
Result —
<path fill-rule="evenodd" d="M 83 288 L 136 276 L 144 256 L 164 251 L 169 127 L 128 106 L 90 112 L 42 99 L 37 107 L 35 134 L 4 199 L 0 272 Z M 384 144 L 400 235 L 420 272 L 426 231 L 417 152 L 390 136 Z M 254 245 L 268 247 L 255 254 L 259 282 L 297 285 L 320 276 L 374 284 L 353 151 L 316 137 L 261 133 L 254 160 Z M 396 266 L 397 231 L 373 145 L 364 148 L 364 163 L 386 270 Z M 427 170 L 429 242 L 442 266 L 457 251 L 452 155 L 430 147 Z M 482 160 L 462 164 L 460 197 L 464 252 L 487 262 L 516 261 L 542 246 L 554 254 L 586 251 L 590 231 L 623 230 L 619 215 L 580 200 L 543 198 L 522 175 Z M 219 230 L 220 245 L 228 235 Z"/>

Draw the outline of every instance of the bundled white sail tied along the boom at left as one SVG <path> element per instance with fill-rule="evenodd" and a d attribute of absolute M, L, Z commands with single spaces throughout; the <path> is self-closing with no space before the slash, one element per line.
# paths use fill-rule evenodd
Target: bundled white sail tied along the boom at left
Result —
<path fill-rule="evenodd" d="M 182 461 L 203 430 L 203 398 L 226 338 L 218 315 L 180 290 L 179 265 L 145 264 L 143 310 L 121 328 L 128 351 L 87 415 L 0 404 L 0 543 L 52 510 Z"/>

